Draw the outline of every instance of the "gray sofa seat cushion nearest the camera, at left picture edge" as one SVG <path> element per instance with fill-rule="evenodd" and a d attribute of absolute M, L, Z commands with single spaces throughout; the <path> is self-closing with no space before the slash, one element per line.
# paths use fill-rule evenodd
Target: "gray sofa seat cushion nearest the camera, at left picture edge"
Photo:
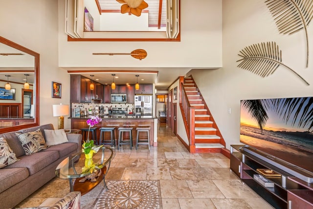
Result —
<path fill-rule="evenodd" d="M 0 169 L 0 192 L 22 182 L 28 176 L 29 173 L 25 167 Z"/>

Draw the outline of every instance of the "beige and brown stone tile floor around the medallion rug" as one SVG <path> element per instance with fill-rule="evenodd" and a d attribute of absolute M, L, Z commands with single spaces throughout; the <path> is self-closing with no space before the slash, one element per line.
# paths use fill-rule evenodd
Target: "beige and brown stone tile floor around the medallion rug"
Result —
<path fill-rule="evenodd" d="M 157 130 L 157 147 L 116 150 L 107 180 L 158 180 L 163 209 L 271 209 L 230 171 L 220 153 L 190 154 L 165 125 Z M 82 196 L 81 208 L 92 209 L 103 184 Z M 18 205 L 50 206 L 69 191 L 67 180 L 54 178 Z"/>

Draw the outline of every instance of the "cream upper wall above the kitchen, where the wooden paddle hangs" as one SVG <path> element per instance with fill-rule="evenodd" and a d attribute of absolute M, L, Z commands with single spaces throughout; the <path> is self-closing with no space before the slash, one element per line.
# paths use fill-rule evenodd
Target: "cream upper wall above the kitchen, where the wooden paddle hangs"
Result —
<path fill-rule="evenodd" d="M 63 0 L 59 0 L 59 2 L 63 2 Z M 67 42 L 67 35 L 63 32 L 64 4 L 60 4 L 59 66 L 122 68 L 221 67 L 221 11 L 222 1 L 181 0 L 180 42 Z M 92 55 L 95 52 L 130 53 L 137 48 L 145 49 L 148 56 L 140 61 L 125 55 Z"/>

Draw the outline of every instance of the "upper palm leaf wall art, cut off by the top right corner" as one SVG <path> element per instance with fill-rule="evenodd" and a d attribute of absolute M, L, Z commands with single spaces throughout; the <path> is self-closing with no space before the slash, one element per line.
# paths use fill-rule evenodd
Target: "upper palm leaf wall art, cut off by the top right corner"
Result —
<path fill-rule="evenodd" d="M 313 0 L 266 0 L 279 33 L 293 34 L 304 29 L 307 43 L 307 63 L 309 66 L 309 38 L 307 27 L 313 19 Z"/>

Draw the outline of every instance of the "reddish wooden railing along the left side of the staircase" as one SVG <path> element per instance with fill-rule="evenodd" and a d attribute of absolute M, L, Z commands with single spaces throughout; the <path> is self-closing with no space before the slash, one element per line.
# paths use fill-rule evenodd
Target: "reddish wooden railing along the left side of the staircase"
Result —
<path fill-rule="evenodd" d="M 187 137 L 189 139 L 190 153 L 194 153 L 195 150 L 195 108 L 189 103 L 187 93 L 183 88 L 183 78 L 180 79 L 179 85 L 179 106 L 182 113 L 183 121 L 185 124 Z"/>

